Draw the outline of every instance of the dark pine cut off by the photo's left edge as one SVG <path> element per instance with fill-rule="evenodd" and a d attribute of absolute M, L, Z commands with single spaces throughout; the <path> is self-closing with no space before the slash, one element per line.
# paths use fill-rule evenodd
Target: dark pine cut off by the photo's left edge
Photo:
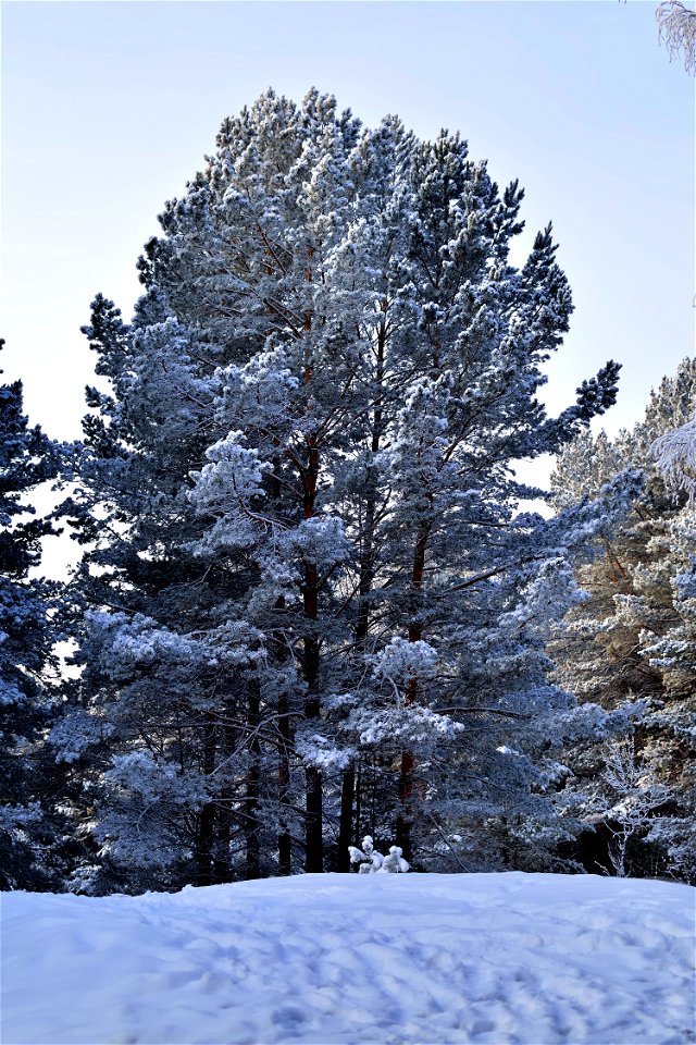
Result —
<path fill-rule="evenodd" d="M 57 786 L 44 745 L 53 708 L 47 683 L 57 680 L 55 590 L 30 576 L 41 538 L 55 530 L 27 501 L 55 478 L 59 463 L 60 447 L 29 428 L 22 383 L 0 385 L 0 889 L 60 884 L 51 837 L 60 821 Z"/>

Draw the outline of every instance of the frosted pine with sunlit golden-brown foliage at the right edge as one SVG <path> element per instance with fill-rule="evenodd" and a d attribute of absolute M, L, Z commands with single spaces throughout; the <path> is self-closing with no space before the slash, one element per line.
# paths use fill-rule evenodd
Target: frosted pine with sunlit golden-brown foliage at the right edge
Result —
<path fill-rule="evenodd" d="M 626 762 L 625 745 L 619 761 L 611 746 L 576 751 L 573 770 L 585 792 L 579 810 L 606 825 L 600 831 L 610 851 L 617 831 L 629 823 L 623 864 L 631 873 L 672 873 L 686 881 L 696 875 L 696 545 L 689 491 L 670 483 L 670 469 L 661 474 L 659 448 L 666 452 L 671 434 L 691 423 L 695 406 L 696 365 L 685 359 L 650 394 L 643 421 L 614 442 L 604 432 L 579 437 L 560 454 L 552 479 L 562 507 L 595 496 L 620 469 L 645 471 L 644 493 L 630 514 L 604 527 L 597 554 L 577 564 L 591 598 L 570 614 L 552 649 L 561 685 L 607 709 L 624 705 L 634 720 L 635 765 L 623 773 L 632 789 L 619 794 L 602 769 L 607 760 Z"/>

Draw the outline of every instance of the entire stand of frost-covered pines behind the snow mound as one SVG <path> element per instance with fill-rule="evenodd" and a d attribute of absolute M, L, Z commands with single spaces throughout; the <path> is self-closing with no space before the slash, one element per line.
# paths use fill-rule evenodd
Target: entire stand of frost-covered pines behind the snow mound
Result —
<path fill-rule="evenodd" d="M 133 318 L 85 302 L 83 439 L 1 386 L 1 889 L 348 873 L 365 835 L 696 884 L 696 364 L 614 439 L 620 360 L 550 413 L 571 286 L 551 225 L 511 262 L 494 175 L 269 89 L 164 204 Z"/>

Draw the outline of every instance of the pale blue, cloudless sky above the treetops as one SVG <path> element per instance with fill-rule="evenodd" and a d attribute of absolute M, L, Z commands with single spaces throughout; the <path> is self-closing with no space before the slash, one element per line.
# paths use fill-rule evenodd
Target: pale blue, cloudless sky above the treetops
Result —
<path fill-rule="evenodd" d="M 576 305 L 549 370 L 556 408 L 617 358 L 616 432 L 694 351 L 694 81 L 658 45 L 652 2 L 11 0 L 1 14 L 0 366 L 51 435 L 79 435 L 95 293 L 129 318 L 164 200 L 269 85 L 298 101 L 314 85 L 368 124 L 396 112 L 423 137 L 460 130 L 496 181 L 520 179 L 523 247 L 554 222 Z"/>

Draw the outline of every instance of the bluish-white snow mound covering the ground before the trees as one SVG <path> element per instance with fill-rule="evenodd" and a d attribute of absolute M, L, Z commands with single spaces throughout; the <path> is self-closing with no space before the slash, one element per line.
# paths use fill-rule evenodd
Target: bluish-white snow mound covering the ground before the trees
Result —
<path fill-rule="evenodd" d="M 2 1041 L 684 1045 L 695 897 L 521 872 L 5 893 Z"/>

